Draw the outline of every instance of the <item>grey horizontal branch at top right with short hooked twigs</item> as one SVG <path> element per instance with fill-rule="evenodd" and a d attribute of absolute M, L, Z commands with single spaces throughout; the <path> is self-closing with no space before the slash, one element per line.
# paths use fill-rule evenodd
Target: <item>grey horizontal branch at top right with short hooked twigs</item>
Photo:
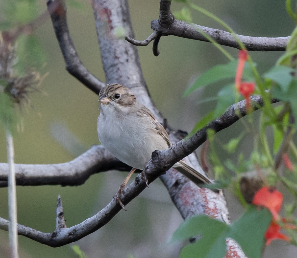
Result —
<path fill-rule="evenodd" d="M 284 51 L 286 49 L 290 36 L 268 38 L 268 37 L 251 37 L 243 35 L 233 35 L 227 31 L 208 28 L 196 24 L 188 24 L 184 21 L 176 20 L 170 11 L 171 1 L 160 0 L 160 15 L 158 20 L 151 22 L 151 28 L 154 35 L 161 36 L 178 36 L 187 39 L 195 39 L 209 42 L 199 31 L 203 31 L 217 43 L 240 49 L 234 36 L 236 36 L 249 51 Z M 127 39 L 136 46 L 144 46 L 142 41 Z M 149 43 L 149 42 L 148 42 Z M 155 42 L 154 42 L 155 43 Z M 156 44 L 157 45 L 157 44 Z M 156 48 L 157 46 L 154 46 Z M 155 55 L 155 51 L 154 51 Z"/>

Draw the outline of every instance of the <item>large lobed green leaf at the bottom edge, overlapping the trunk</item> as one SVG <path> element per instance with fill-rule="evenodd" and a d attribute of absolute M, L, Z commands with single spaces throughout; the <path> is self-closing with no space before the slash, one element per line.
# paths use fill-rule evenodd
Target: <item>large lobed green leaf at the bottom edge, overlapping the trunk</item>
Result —
<path fill-rule="evenodd" d="M 194 244 L 185 246 L 180 257 L 224 257 L 226 238 L 234 239 L 249 258 L 260 258 L 264 244 L 264 233 L 271 222 L 267 209 L 257 210 L 249 206 L 244 215 L 231 225 L 227 225 L 205 215 L 192 217 L 181 223 L 171 241 L 184 240 L 194 236 L 201 238 Z"/>

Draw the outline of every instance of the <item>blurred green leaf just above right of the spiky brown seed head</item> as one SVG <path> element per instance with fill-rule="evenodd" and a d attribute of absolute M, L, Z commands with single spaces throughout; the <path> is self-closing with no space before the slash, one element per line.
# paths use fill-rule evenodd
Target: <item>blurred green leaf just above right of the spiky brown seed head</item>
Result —
<path fill-rule="evenodd" d="M 26 69 L 31 67 L 40 69 L 44 65 L 46 55 L 37 37 L 33 35 L 21 35 L 18 37 L 17 43 L 16 55 L 18 57 L 18 63 L 15 65 L 15 69 L 19 74 L 23 74 Z"/>

